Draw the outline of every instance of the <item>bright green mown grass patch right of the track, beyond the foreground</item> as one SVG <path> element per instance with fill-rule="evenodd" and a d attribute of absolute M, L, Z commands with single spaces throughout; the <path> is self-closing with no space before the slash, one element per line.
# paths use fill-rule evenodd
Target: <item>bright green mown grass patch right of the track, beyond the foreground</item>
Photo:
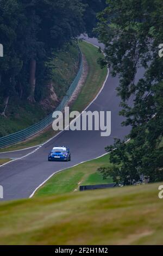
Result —
<path fill-rule="evenodd" d="M 109 155 L 98 159 L 78 164 L 78 166 L 68 168 L 49 179 L 35 194 L 35 196 L 51 196 L 78 190 L 79 185 L 95 185 L 111 183 L 112 179 L 103 179 L 97 172 L 97 168 L 109 165 Z"/>

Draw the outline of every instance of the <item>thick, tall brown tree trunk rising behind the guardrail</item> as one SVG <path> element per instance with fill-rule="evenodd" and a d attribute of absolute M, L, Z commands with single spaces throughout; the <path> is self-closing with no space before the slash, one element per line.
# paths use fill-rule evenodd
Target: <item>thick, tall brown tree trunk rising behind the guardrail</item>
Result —
<path fill-rule="evenodd" d="M 35 102 L 34 93 L 36 86 L 36 60 L 34 58 L 30 59 L 30 72 L 29 72 L 29 84 L 30 84 L 30 95 L 28 100 L 31 102 Z"/>

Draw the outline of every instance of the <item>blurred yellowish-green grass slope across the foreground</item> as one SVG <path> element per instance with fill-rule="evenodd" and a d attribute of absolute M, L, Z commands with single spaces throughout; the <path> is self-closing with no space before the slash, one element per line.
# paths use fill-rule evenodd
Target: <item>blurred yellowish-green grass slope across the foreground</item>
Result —
<path fill-rule="evenodd" d="M 149 184 L 0 204 L 1 245 L 162 245 L 162 200 Z"/>

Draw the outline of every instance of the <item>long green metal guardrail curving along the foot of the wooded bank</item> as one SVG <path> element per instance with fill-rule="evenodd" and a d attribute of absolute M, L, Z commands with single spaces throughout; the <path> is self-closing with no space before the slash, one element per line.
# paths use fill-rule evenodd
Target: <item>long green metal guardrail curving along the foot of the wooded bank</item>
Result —
<path fill-rule="evenodd" d="M 83 71 L 83 60 L 82 60 L 82 53 L 80 51 L 80 68 L 78 71 L 77 76 L 74 78 L 74 81 L 72 82 L 71 86 L 67 90 L 66 95 L 60 102 L 59 106 L 55 108 L 55 111 L 62 111 L 68 102 L 70 100 L 70 97 L 72 96 L 74 90 L 76 89 L 78 82 L 80 80 L 80 77 L 82 76 Z M 7 147 L 8 145 L 13 145 L 18 142 L 22 142 L 25 139 L 32 137 L 37 132 L 42 131 L 45 129 L 48 125 L 53 123 L 54 118 L 52 118 L 52 114 L 49 114 L 48 117 L 44 118 L 43 120 L 39 121 L 39 123 L 36 123 L 24 130 L 12 133 L 10 135 L 4 136 L 0 138 L 0 148 Z"/>

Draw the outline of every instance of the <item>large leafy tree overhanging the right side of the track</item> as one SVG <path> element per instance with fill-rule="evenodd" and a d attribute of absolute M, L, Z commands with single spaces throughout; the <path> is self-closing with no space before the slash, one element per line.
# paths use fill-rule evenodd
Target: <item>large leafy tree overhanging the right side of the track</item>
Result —
<path fill-rule="evenodd" d="M 118 74 L 123 125 L 131 125 L 129 143 L 115 140 L 108 169 L 99 169 L 116 182 L 133 184 L 140 177 L 149 181 L 163 180 L 163 43 L 162 0 L 108 0 L 108 7 L 98 15 L 97 32 L 106 48 L 105 61 Z M 145 75 L 137 81 L 139 68 Z M 130 101 L 133 104 L 129 104 Z"/>

